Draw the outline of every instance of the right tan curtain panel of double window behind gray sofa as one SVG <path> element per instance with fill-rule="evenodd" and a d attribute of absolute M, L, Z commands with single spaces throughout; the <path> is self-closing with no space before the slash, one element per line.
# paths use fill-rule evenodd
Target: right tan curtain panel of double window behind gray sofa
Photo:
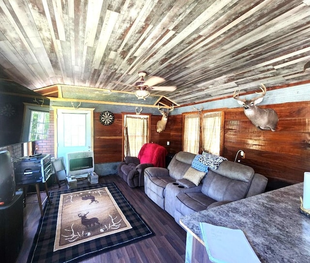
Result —
<path fill-rule="evenodd" d="M 202 116 L 202 149 L 219 155 L 221 113 L 205 113 Z"/>

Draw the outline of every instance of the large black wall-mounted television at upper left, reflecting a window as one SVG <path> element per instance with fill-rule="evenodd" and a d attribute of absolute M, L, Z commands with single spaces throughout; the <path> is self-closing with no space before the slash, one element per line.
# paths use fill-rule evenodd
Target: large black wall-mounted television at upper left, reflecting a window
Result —
<path fill-rule="evenodd" d="M 47 138 L 49 99 L 0 79 L 0 147 Z"/>

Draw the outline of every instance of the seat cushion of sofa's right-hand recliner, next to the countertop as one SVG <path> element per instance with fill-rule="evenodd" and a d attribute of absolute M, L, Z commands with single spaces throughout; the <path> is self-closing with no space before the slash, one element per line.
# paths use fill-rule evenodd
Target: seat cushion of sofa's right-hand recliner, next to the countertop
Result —
<path fill-rule="evenodd" d="M 201 192 L 179 193 L 177 198 L 175 209 L 183 215 L 206 210 L 210 204 L 216 201 Z"/>

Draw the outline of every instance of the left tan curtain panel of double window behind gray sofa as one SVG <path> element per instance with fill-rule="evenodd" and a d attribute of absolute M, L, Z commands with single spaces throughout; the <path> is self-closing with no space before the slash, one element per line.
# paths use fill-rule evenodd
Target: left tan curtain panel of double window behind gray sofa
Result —
<path fill-rule="evenodd" d="M 199 152 L 199 114 L 185 115 L 184 120 L 184 151 L 198 154 Z"/>

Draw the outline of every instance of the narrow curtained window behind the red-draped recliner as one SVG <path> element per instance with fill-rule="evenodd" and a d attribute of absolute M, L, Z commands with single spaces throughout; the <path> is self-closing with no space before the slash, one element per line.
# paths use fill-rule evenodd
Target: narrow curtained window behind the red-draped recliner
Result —
<path fill-rule="evenodd" d="M 124 115 L 124 156 L 138 157 L 141 147 L 149 142 L 148 132 L 148 115 Z"/>

